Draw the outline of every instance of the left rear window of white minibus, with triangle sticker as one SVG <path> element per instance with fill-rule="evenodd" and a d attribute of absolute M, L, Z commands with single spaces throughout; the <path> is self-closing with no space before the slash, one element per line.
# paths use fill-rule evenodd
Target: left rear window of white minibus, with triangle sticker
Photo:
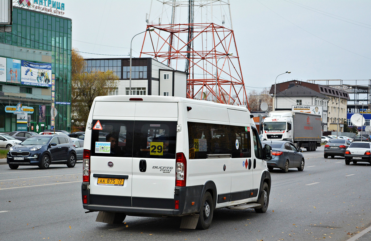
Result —
<path fill-rule="evenodd" d="M 94 128 L 96 123 L 102 128 Z M 91 155 L 132 157 L 134 121 L 93 120 Z"/>

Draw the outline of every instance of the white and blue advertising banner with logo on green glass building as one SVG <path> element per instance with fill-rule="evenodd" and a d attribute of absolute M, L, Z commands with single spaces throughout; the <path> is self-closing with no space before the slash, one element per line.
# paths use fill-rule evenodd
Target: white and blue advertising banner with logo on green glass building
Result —
<path fill-rule="evenodd" d="M 21 83 L 30 86 L 52 86 L 52 64 L 21 60 Z"/>

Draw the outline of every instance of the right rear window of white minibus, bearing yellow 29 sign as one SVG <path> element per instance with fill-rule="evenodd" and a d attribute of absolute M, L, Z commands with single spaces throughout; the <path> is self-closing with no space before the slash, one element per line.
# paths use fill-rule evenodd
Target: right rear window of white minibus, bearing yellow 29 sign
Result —
<path fill-rule="evenodd" d="M 135 121 L 133 157 L 175 159 L 177 123 Z"/>

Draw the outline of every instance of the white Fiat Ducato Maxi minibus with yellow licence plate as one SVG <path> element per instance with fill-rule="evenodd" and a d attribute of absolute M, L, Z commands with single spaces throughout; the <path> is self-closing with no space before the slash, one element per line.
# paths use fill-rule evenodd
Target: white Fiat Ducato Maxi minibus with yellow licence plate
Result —
<path fill-rule="evenodd" d="M 96 221 L 182 217 L 207 229 L 215 208 L 269 203 L 270 173 L 244 107 L 163 96 L 96 97 L 85 131 L 83 208 Z"/>

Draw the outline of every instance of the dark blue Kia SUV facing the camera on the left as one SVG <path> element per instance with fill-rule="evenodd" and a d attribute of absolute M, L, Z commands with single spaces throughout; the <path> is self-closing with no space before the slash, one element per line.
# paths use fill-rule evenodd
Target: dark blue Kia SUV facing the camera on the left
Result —
<path fill-rule="evenodd" d="M 33 135 L 9 149 L 6 162 L 11 169 L 20 165 L 37 165 L 46 169 L 50 164 L 76 164 L 76 149 L 68 136 Z"/>

